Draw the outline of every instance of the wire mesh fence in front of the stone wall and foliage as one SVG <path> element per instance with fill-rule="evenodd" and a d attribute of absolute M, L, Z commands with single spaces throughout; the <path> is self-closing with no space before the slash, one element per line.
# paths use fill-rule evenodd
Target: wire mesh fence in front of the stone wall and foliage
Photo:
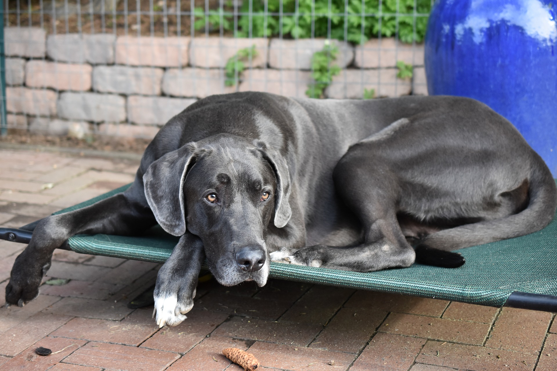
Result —
<path fill-rule="evenodd" d="M 431 0 L 4 0 L 7 126 L 152 137 L 194 101 L 427 94 Z"/>

